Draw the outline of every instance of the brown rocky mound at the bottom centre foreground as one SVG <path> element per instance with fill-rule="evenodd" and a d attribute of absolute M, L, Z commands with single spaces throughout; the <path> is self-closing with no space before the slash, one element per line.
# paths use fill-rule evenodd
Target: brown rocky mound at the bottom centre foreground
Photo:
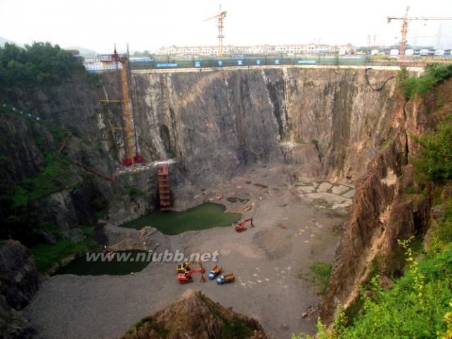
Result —
<path fill-rule="evenodd" d="M 122 339 L 145 338 L 254 338 L 264 339 L 254 319 L 213 302 L 199 290 L 187 290 L 183 298 L 138 321 Z"/>

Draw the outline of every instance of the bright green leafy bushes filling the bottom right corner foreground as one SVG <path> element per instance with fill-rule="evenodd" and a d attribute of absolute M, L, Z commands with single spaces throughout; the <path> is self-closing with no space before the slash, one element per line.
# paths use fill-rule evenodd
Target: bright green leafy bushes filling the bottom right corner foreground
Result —
<path fill-rule="evenodd" d="M 387 291 L 375 276 L 363 293 L 363 314 L 355 319 L 341 314 L 330 331 L 319 322 L 318 338 L 450 338 L 444 334 L 451 329 L 444 317 L 451 312 L 452 244 L 417 262 L 408 241 L 399 243 L 409 264 L 404 276 Z M 313 337 L 292 336 L 297 338 Z"/>

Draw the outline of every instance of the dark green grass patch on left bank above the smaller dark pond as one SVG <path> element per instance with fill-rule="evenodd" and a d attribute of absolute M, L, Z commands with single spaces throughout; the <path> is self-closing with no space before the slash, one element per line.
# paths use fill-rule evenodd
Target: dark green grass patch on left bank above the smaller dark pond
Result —
<path fill-rule="evenodd" d="M 66 238 L 56 243 L 41 243 L 31 248 L 30 250 L 34 256 L 38 270 L 46 272 L 56 262 L 59 262 L 65 257 L 82 252 L 86 248 L 96 248 L 98 243 L 93 239 L 94 229 L 92 227 L 84 227 L 83 231 L 86 238 L 78 243 Z"/>

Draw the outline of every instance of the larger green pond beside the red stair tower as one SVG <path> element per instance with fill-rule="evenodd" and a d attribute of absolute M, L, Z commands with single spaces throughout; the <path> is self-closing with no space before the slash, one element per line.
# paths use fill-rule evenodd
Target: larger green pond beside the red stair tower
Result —
<path fill-rule="evenodd" d="M 142 229 L 153 226 L 162 234 L 174 235 L 185 231 L 198 231 L 212 227 L 231 226 L 240 219 L 239 213 L 225 213 L 226 207 L 216 203 L 203 203 L 183 212 L 153 212 L 121 227 Z"/>

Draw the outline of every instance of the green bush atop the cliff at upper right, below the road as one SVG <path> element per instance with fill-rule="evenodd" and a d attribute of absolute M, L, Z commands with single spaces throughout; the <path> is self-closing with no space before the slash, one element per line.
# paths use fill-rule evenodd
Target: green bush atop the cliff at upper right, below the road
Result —
<path fill-rule="evenodd" d="M 411 99 L 415 94 L 422 94 L 434 89 L 437 84 L 452 76 L 452 65 L 430 64 L 422 77 L 408 77 L 406 68 L 402 68 L 398 80 L 403 96 Z"/>

